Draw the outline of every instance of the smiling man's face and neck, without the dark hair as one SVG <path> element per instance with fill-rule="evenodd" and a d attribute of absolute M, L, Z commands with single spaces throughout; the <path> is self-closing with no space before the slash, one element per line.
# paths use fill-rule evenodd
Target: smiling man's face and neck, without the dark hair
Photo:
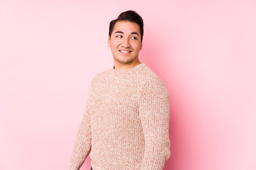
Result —
<path fill-rule="evenodd" d="M 119 66 L 139 62 L 139 51 L 142 50 L 142 37 L 139 25 L 129 21 L 117 21 L 109 36 L 107 45 L 114 57 L 114 64 Z"/>

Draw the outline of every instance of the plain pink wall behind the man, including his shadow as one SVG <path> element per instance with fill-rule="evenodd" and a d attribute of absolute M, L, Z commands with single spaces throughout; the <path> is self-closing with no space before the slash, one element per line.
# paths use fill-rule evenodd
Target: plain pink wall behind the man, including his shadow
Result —
<path fill-rule="evenodd" d="M 68 169 L 109 22 L 144 18 L 140 59 L 171 103 L 164 169 L 256 169 L 255 1 L 0 1 L 0 169 Z M 82 169 L 89 169 L 87 159 Z"/>

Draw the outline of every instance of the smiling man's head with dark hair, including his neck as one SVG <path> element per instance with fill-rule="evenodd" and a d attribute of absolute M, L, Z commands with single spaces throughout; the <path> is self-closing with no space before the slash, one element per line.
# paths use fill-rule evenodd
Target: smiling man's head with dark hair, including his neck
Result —
<path fill-rule="evenodd" d="M 114 57 L 114 68 L 127 69 L 139 64 L 142 50 L 143 21 L 135 11 L 121 13 L 110 22 L 107 45 Z"/>

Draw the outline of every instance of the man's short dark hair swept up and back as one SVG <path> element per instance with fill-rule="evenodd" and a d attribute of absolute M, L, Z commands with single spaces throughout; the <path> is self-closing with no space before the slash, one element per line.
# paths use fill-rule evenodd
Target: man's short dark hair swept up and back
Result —
<path fill-rule="evenodd" d="M 139 16 L 139 14 L 136 11 L 129 10 L 129 11 L 122 12 L 117 17 L 117 19 L 112 20 L 110 22 L 110 30 L 109 30 L 110 37 L 111 37 L 111 34 L 114 30 L 114 24 L 117 23 L 117 21 L 129 21 L 129 22 L 132 22 L 132 23 L 137 23 L 139 25 L 139 33 L 142 35 L 142 38 L 143 38 L 143 32 L 144 32 L 144 30 L 143 30 L 143 26 L 144 26 L 143 20 L 142 20 L 142 17 Z"/>

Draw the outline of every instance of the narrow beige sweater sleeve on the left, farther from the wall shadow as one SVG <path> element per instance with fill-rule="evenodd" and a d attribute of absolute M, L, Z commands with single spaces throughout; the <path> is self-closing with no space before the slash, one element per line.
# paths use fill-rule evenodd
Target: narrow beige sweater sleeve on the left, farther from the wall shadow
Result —
<path fill-rule="evenodd" d="M 90 86 L 90 91 L 92 85 Z M 90 92 L 89 92 L 90 96 Z M 88 104 L 88 103 L 87 103 Z M 85 114 L 82 116 L 82 122 L 80 123 L 80 128 L 75 137 L 75 146 L 73 149 L 73 154 L 71 157 L 71 163 L 69 170 L 78 170 L 82 166 L 83 162 L 90 154 L 92 147 L 92 137 L 91 137 L 91 126 L 90 126 L 90 114 L 85 111 Z"/>

